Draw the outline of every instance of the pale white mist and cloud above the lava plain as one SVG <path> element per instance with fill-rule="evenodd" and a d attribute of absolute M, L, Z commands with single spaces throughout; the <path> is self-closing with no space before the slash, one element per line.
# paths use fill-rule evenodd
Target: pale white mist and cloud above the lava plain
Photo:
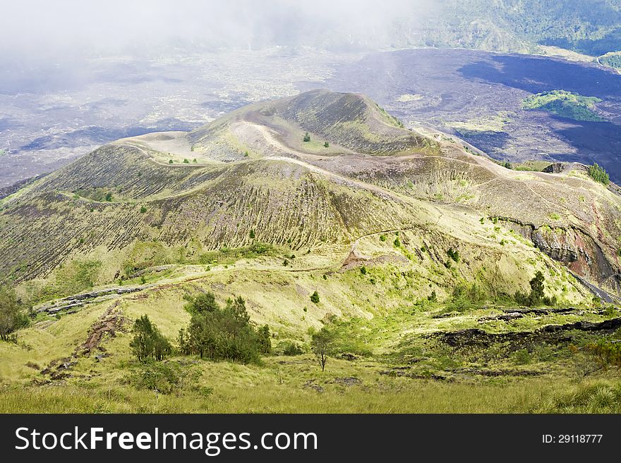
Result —
<path fill-rule="evenodd" d="M 0 50 L 13 58 L 209 44 L 358 43 L 373 48 L 395 20 L 416 22 L 429 0 L 3 0 Z M 435 2 L 437 3 L 437 1 Z"/>

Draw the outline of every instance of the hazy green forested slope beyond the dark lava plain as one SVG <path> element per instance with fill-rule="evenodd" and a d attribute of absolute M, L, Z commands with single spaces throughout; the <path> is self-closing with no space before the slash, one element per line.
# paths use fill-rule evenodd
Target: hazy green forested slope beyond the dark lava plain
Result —
<path fill-rule="evenodd" d="M 599 56 L 621 50 L 618 0 L 442 0 L 413 2 L 385 31 L 354 35 L 381 48 L 440 47 L 527 53 L 555 45 Z M 338 37 L 330 37 L 338 43 Z"/>

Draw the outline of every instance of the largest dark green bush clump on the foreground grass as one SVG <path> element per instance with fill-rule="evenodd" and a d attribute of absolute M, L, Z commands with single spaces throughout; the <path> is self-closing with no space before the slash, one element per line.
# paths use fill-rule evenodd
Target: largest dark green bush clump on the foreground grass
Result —
<path fill-rule="evenodd" d="M 179 332 L 179 349 L 184 354 L 247 364 L 258 363 L 260 354 L 271 352 L 269 328 L 254 328 L 241 297 L 227 300 L 223 309 L 211 292 L 190 299 L 186 307 L 192 319 L 188 328 Z"/>

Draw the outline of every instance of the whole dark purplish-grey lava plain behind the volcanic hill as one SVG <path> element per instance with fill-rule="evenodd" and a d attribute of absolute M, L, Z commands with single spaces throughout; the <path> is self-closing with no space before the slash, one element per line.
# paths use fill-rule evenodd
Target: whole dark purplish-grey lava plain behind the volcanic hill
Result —
<path fill-rule="evenodd" d="M 406 125 L 457 135 L 496 159 L 597 162 L 621 181 L 621 75 L 596 63 L 464 49 L 270 49 L 95 60 L 81 73 L 28 69 L 13 76 L 31 76 L 20 91 L 10 73 L 0 76 L 0 187 L 119 137 L 191 130 L 250 102 L 313 88 L 368 94 Z M 521 109 L 525 97 L 555 89 L 598 97 L 606 121 Z"/>

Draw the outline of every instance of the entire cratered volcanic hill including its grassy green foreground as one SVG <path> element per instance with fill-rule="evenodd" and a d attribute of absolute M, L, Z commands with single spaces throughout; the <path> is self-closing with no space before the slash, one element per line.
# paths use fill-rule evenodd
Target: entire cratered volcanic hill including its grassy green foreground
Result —
<path fill-rule="evenodd" d="M 0 200 L 0 308 L 22 309 L 0 411 L 617 412 L 589 354 L 620 335 L 613 186 L 324 90 L 107 144 Z M 213 360 L 186 348 L 210 294 L 272 353 L 231 354 L 224 322 Z M 163 361 L 133 355 L 144 315 Z"/>

